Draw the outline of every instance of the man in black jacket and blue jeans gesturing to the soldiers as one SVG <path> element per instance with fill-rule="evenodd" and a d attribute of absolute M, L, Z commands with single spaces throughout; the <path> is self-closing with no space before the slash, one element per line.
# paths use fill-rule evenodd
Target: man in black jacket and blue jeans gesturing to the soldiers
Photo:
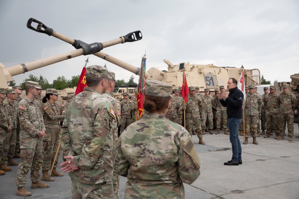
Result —
<path fill-rule="evenodd" d="M 218 92 L 218 98 L 220 103 L 227 107 L 229 140 L 231 141 L 231 148 L 233 156 L 231 161 L 225 162 L 224 165 L 239 165 L 242 164 L 242 148 L 238 136 L 238 127 L 242 120 L 242 104 L 243 93 L 237 88 L 238 81 L 235 78 L 230 78 L 227 82 L 227 89 L 229 95 L 226 92 Z M 223 100 L 223 98 L 226 98 Z"/>

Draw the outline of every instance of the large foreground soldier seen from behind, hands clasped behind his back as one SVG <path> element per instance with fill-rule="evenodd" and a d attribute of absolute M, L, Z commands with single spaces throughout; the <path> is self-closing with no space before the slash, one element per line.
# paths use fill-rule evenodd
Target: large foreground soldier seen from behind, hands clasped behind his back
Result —
<path fill-rule="evenodd" d="M 86 67 L 86 83 L 65 109 L 60 132 L 60 164 L 72 181 L 72 198 L 113 198 L 112 124 L 115 112 L 102 95 L 108 87 L 108 70 Z"/>

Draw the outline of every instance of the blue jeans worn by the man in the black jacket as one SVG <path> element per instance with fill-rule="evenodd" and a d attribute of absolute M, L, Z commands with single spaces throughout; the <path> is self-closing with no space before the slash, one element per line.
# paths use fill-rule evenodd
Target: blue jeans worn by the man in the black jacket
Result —
<path fill-rule="evenodd" d="M 233 151 L 232 161 L 241 160 L 242 148 L 238 136 L 238 127 L 242 119 L 228 118 L 229 141 L 231 141 L 231 148 Z"/>

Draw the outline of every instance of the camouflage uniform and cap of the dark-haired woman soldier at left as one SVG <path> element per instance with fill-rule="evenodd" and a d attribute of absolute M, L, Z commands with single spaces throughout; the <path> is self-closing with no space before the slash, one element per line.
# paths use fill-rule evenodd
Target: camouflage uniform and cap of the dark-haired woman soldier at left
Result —
<path fill-rule="evenodd" d="M 59 94 L 56 89 L 47 89 L 46 93 L 53 93 L 54 95 Z M 51 169 L 51 165 L 53 164 L 55 154 L 57 152 L 58 144 L 60 141 L 60 121 L 64 119 L 64 116 L 60 115 L 60 109 L 56 102 L 52 103 L 49 100 L 45 104 L 43 104 L 42 112 L 45 127 L 47 129 L 46 136 L 42 138 L 44 145 L 42 171 L 48 171 Z M 57 167 L 59 155 L 60 148 L 58 149 L 54 168 Z"/>

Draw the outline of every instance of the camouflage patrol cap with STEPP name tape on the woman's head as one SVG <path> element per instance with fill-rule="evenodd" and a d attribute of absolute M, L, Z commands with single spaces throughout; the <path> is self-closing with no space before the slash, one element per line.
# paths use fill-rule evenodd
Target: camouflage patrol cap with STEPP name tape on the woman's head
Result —
<path fill-rule="evenodd" d="M 169 97 L 172 86 L 166 82 L 157 80 L 145 81 L 145 95 L 157 97 Z"/>

